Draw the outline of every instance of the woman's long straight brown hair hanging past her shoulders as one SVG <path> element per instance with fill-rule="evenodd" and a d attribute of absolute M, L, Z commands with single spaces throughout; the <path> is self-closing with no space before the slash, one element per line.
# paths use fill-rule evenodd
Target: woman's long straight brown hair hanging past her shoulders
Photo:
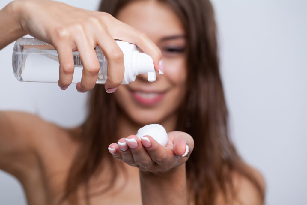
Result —
<path fill-rule="evenodd" d="M 99 11 L 113 16 L 133 0 L 103 0 Z M 236 152 L 228 134 L 228 112 L 220 79 L 216 24 L 209 0 L 160 0 L 170 6 L 184 25 L 187 42 L 188 93 L 180 108 L 176 130 L 187 132 L 195 142 L 186 162 L 189 200 L 195 204 L 213 204 L 218 191 L 227 200 L 226 186 L 232 186 L 233 171 L 245 176 L 264 191 Z M 91 91 L 89 117 L 83 125 L 80 150 L 70 169 L 63 199 L 72 198 L 80 185 L 106 162 L 111 165 L 112 179 L 117 168 L 107 147 L 116 136 L 118 107 L 104 87 Z M 109 180 L 111 182 L 111 179 Z M 108 184 L 111 187 L 111 183 Z M 234 190 L 234 189 L 231 189 Z M 233 191 L 232 196 L 235 197 Z M 89 195 L 86 195 L 89 201 Z M 74 200 L 76 204 L 76 201 Z"/>

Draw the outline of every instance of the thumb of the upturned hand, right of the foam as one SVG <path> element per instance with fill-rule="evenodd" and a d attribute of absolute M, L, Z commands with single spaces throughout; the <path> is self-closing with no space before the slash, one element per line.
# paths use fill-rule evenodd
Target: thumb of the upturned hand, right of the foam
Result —
<path fill-rule="evenodd" d="M 173 141 L 173 152 L 182 157 L 189 157 L 194 148 L 192 136 L 185 132 L 169 132 L 168 137 Z"/>

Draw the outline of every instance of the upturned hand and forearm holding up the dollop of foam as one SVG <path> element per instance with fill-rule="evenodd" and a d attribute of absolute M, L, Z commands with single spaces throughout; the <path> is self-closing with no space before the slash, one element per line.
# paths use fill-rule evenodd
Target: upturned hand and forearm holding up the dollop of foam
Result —
<path fill-rule="evenodd" d="M 110 144 L 109 151 L 117 160 L 122 160 L 130 166 L 140 169 L 142 201 L 144 205 L 151 204 L 187 204 L 187 179 L 185 162 L 194 148 L 192 136 L 185 132 L 168 133 L 165 146 L 159 144 L 151 136 L 144 136 L 132 148 L 131 141 L 122 144 Z"/>

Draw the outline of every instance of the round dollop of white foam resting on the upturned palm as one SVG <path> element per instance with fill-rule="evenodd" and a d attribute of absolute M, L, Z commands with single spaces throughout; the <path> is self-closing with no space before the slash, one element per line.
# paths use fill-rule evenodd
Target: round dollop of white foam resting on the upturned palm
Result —
<path fill-rule="evenodd" d="M 160 124 L 148 124 L 138 130 L 136 136 L 140 139 L 141 137 L 148 135 L 151 136 L 154 140 L 156 140 L 162 146 L 167 144 L 167 133 L 164 127 Z"/>

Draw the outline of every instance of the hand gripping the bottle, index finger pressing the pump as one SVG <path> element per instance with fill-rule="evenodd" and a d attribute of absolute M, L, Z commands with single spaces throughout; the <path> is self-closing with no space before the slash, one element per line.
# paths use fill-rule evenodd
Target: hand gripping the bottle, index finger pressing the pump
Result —
<path fill-rule="evenodd" d="M 6 36 L 2 38 L 4 40 L 0 40 L 2 41 L 0 45 L 4 47 L 3 45 L 24 34 L 30 34 L 53 45 L 59 55 L 58 84 L 61 89 L 66 89 L 72 82 L 74 72 L 72 51 L 77 50 L 84 66 L 81 82 L 76 86 L 77 90 L 85 92 L 95 86 L 100 65 L 94 48 L 99 45 L 108 64 L 105 89 L 109 93 L 114 92 L 122 83 L 124 76 L 123 52 L 114 39 L 138 45 L 153 58 L 154 67 L 157 71 L 159 70 L 161 51 L 158 47 L 146 34 L 120 22 L 110 14 L 84 10 L 56 1 L 19 0 L 3 8 L 0 11 L 0 19 L 11 18 L 5 17 L 5 14 L 12 11 L 15 12 L 14 23 L 20 25 L 17 30 L 19 36 L 12 39 L 6 37 L 10 35 L 7 33 L 9 31 L 6 34 L 2 33 Z M 5 23 L 0 23 L 1 30 L 7 26 Z"/>

